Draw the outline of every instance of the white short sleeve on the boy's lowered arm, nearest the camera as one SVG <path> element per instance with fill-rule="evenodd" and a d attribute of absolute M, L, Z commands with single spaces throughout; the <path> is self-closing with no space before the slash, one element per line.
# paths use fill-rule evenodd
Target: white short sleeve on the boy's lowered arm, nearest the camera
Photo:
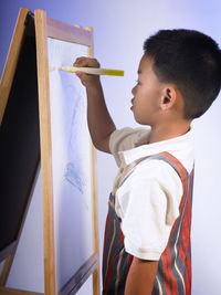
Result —
<path fill-rule="evenodd" d="M 149 172 L 145 165 L 139 167 L 133 180 L 126 180 L 124 189 L 117 191 L 125 250 L 143 260 L 159 260 L 179 217 L 182 185 L 173 168 L 168 166 L 150 160 Z"/>

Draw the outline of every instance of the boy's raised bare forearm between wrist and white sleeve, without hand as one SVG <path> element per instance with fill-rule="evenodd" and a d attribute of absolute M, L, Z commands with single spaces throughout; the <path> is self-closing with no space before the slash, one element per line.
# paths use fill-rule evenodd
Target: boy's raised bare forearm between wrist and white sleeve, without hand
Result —
<path fill-rule="evenodd" d="M 107 110 L 103 88 L 99 81 L 86 87 L 87 94 L 87 122 L 94 146 L 109 152 L 108 139 L 116 129 Z"/>

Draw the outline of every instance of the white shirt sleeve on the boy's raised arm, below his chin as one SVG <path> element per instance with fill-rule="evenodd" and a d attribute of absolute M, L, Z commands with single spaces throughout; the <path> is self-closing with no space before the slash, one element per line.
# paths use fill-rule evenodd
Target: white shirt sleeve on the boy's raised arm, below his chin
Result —
<path fill-rule="evenodd" d="M 113 131 L 109 138 L 109 150 L 113 154 L 117 166 L 120 166 L 119 151 L 135 148 L 136 145 L 147 144 L 150 128 L 123 128 Z"/>

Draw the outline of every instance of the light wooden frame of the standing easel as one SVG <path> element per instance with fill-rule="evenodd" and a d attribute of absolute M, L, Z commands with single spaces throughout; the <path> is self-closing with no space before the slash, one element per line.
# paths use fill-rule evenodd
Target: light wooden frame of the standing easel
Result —
<path fill-rule="evenodd" d="M 27 33 L 27 18 L 32 18 L 28 9 L 22 8 L 18 18 L 12 38 L 6 67 L 0 84 L 0 122 L 3 117 L 8 96 L 10 93 L 13 74 L 17 67 L 20 48 Z M 93 56 L 93 32 L 91 28 L 85 30 L 80 27 L 69 25 L 46 17 L 45 11 L 36 10 L 34 15 L 38 84 L 39 84 L 39 115 L 40 115 L 40 143 L 41 143 L 41 170 L 42 170 L 42 198 L 43 198 L 43 243 L 44 243 L 44 294 L 55 295 L 55 241 L 54 241 L 54 215 L 53 215 L 53 187 L 52 187 L 52 143 L 51 143 L 51 114 L 50 114 L 50 84 L 48 61 L 48 38 L 55 38 L 88 46 L 88 56 Z M 10 63 L 10 66 L 9 66 Z M 93 293 L 99 294 L 99 265 L 98 265 L 98 233 L 97 209 L 95 191 L 95 157 L 92 147 L 93 159 L 93 224 L 94 224 L 94 253 L 82 265 L 76 274 L 67 282 L 59 294 L 75 294 L 87 277 L 93 274 Z M 27 210 L 28 211 L 28 206 Z M 23 222 L 25 214 L 23 217 Z M 23 223 L 22 223 L 23 224 Z M 22 225 L 20 232 L 22 230 Z M 19 235 L 20 236 L 20 235 Z M 19 239 L 18 239 L 19 240 Z M 0 286 L 6 284 L 10 266 L 15 254 L 18 242 L 11 245 L 7 252 L 3 271 L 0 277 Z M 0 294 L 39 294 L 33 292 L 15 291 L 0 287 Z"/>

